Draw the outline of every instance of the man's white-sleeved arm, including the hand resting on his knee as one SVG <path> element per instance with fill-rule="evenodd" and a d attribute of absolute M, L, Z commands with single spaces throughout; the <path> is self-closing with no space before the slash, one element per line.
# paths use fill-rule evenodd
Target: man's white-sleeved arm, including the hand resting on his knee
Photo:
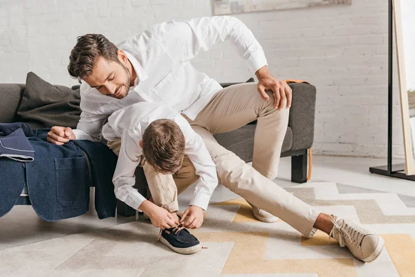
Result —
<path fill-rule="evenodd" d="M 229 41 L 237 53 L 246 60 L 249 69 L 257 75 L 258 91 L 270 100 L 267 90 L 273 91 L 274 107 L 279 110 L 291 107 L 292 90 L 284 80 L 271 75 L 261 45 L 245 24 L 235 17 L 201 17 L 189 21 L 169 21 L 156 28 L 160 44 L 173 58 L 192 60 L 201 50 L 214 44 Z"/>

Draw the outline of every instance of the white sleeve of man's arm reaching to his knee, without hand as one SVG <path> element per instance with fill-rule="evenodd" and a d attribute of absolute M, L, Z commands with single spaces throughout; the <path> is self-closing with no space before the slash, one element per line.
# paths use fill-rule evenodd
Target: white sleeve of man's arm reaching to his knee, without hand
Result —
<path fill-rule="evenodd" d="M 266 66 L 266 57 L 252 32 L 235 17 L 201 17 L 189 21 L 169 21 L 156 29 L 165 51 L 179 60 L 192 60 L 201 50 L 229 41 L 246 60 L 252 72 Z"/>

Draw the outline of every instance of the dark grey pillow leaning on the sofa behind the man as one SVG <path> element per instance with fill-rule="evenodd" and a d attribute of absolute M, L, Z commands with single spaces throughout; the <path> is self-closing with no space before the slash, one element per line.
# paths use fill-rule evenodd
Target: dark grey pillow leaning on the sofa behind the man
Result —
<path fill-rule="evenodd" d="M 55 125 L 76 128 L 80 120 L 80 91 L 49 84 L 35 73 L 26 77 L 17 121 L 26 122 L 34 129 Z"/>

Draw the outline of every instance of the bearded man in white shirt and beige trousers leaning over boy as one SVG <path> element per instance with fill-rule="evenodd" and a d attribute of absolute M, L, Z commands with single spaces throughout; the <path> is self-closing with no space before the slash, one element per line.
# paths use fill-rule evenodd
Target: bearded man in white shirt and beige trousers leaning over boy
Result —
<path fill-rule="evenodd" d="M 194 69 L 190 61 L 200 51 L 223 41 L 230 42 L 246 60 L 257 75 L 257 84 L 223 89 Z M 239 19 L 169 21 L 118 46 L 103 35 L 84 35 L 78 37 L 71 52 L 68 71 L 82 82 L 80 123 L 74 130 L 53 127 L 48 141 L 99 141 L 102 125 L 113 111 L 141 101 L 163 103 L 187 118 L 205 142 L 221 184 L 245 198 L 258 220 L 275 222 L 278 216 L 306 237 L 320 229 L 366 262 L 382 251 L 378 235 L 348 220 L 319 213 L 270 181 L 277 176 L 292 91 L 286 82 L 271 75 L 264 51 Z M 212 134 L 229 132 L 253 120 L 257 120 L 257 127 L 250 167 L 219 145 Z"/>

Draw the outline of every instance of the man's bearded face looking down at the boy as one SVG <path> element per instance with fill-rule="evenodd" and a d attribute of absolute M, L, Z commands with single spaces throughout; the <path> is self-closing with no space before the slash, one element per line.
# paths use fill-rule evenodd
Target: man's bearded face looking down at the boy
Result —
<path fill-rule="evenodd" d="M 100 58 L 84 81 L 106 96 L 122 99 L 128 94 L 131 74 L 122 62 Z"/>

